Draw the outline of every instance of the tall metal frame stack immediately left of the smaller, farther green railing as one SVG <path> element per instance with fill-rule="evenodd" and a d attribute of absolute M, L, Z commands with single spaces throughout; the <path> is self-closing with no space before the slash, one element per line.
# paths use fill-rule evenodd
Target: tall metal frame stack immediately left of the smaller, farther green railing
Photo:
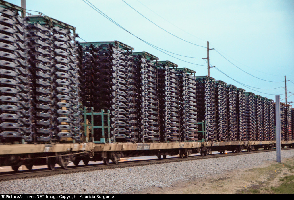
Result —
<path fill-rule="evenodd" d="M 181 141 L 195 141 L 198 140 L 195 71 L 187 68 L 178 71 Z"/>

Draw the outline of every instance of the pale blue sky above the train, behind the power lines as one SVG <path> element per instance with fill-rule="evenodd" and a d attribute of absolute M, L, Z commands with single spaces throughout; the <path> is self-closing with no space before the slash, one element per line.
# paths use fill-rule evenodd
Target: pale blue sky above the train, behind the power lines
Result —
<path fill-rule="evenodd" d="M 149 43 L 181 55 L 206 57 L 206 48 L 169 35 L 121 0 L 89 1 L 131 33 Z M 256 77 L 284 81 L 283 76 L 286 75 L 287 79 L 294 82 L 293 0 L 125 1 L 151 21 L 185 40 L 201 46 L 206 46 L 206 41 L 209 41 L 210 47 L 216 48 L 228 60 Z M 21 0 L 9 0 L 9 2 L 20 5 Z M 82 0 L 26 0 L 26 4 L 29 10 L 41 11 L 49 17 L 75 26 L 76 32 L 88 42 L 118 40 L 132 46 L 135 51 L 147 51 L 159 57 L 159 60 L 170 60 L 179 67 L 195 70 L 198 76 L 207 75 L 207 67 L 177 60 L 148 46 L 103 18 Z M 142 4 L 191 35 L 168 23 Z M 176 57 L 206 65 L 206 61 L 202 59 Z M 257 88 L 284 86 L 284 83 L 266 82 L 242 72 L 214 50 L 210 51 L 210 61 L 213 66 L 244 84 Z M 283 94 L 281 99 L 285 98 L 284 88 L 253 91 L 221 74 L 215 68 L 211 68 L 211 77 L 270 99 L 275 99 L 275 96 L 260 92 Z M 287 82 L 287 89 L 294 92 L 294 84 Z M 294 101 L 294 95 L 289 97 L 288 101 Z"/>

